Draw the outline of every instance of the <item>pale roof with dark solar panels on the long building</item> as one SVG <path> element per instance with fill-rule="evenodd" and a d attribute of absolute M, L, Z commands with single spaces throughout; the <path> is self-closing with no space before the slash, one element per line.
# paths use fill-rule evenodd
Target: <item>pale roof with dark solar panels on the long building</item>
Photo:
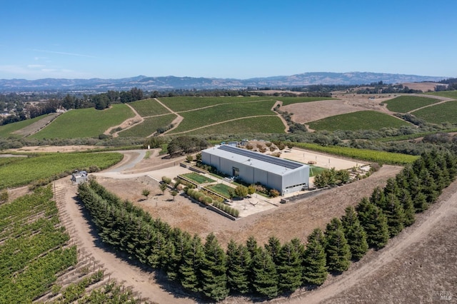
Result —
<path fill-rule="evenodd" d="M 259 168 L 271 173 L 276 173 L 281 176 L 298 168 L 309 167 L 304 163 L 288 161 L 283 158 L 269 156 L 262 153 L 227 145 L 208 148 L 204 150 L 204 152 L 214 156 L 219 156 L 221 158 L 236 161 L 237 163 L 244 163 L 245 165 L 253 166 L 254 168 Z"/>

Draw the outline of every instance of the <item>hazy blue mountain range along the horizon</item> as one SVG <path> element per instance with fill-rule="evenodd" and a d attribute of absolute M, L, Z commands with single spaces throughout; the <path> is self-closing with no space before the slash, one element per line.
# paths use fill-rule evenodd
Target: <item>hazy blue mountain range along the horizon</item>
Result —
<path fill-rule="evenodd" d="M 423 81 L 441 81 L 441 76 L 417 76 L 403 74 L 383 74 L 370 72 L 327 73 L 313 72 L 292 76 L 271 76 L 263 78 L 196 78 L 196 77 L 148 77 L 136 76 L 119 79 L 64 79 L 44 78 L 37 80 L 0 79 L 0 91 L 127 91 L 141 88 L 145 91 L 171 89 L 240 89 L 263 87 L 308 86 L 312 84 L 368 84 L 378 81 L 384 83 L 405 83 Z"/>

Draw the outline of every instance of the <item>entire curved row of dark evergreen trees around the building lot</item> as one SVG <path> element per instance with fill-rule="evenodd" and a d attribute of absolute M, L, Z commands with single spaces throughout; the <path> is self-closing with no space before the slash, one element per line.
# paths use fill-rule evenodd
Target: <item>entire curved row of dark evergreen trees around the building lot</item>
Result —
<path fill-rule="evenodd" d="M 171 228 L 96 181 L 79 186 L 79 197 L 101 240 L 164 270 L 186 290 L 216 301 L 230 293 L 274 298 L 303 285 L 321 285 L 328 273 L 347 270 L 351 260 L 362 258 L 368 248 L 383 248 L 388 238 L 414 222 L 415 213 L 436 201 L 456 175 L 452 154 L 423 154 L 389 179 L 385 188 L 376 188 L 356 208 L 346 208 L 341 219 L 333 218 L 326 230 L 313 230 L 306 245 L 297 238 L 281 244 L 271 237 L 261 246 L 251 237 L 246 244 L 231 240 L 227 250 L 214 234 L 203 242 L 199 235 Z"/>

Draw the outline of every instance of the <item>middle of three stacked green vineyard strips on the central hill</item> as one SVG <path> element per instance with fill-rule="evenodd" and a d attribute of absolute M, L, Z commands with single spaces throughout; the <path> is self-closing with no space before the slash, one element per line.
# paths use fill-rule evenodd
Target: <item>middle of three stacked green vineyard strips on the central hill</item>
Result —
<path fill-rule="evenodd" d="M 271 115 L 276 116 L 271 107 L 274 101 L 258 101 L 255 103 L 223 103 L 219 106 L 212 106 L 196 111 L 182 112 L 184 120 L 172 133 L 193 130 L 207 126 L 211 123 L 220 123 L 234 118 L 243 118 L 246 116 Z"/>

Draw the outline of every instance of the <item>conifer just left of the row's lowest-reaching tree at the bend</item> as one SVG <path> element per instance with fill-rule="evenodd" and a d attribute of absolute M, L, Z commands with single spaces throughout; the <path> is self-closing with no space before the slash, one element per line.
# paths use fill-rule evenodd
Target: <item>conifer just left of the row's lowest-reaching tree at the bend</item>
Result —
<path fill-rule="evenodd" d="M 189 245 L 184 248 L 182 263 L 179 267 L 179 280 L 187 290 L 201 291 L 201 263 L 204 259 L 204 249 L 201 239 L 194 235 Z"/>

